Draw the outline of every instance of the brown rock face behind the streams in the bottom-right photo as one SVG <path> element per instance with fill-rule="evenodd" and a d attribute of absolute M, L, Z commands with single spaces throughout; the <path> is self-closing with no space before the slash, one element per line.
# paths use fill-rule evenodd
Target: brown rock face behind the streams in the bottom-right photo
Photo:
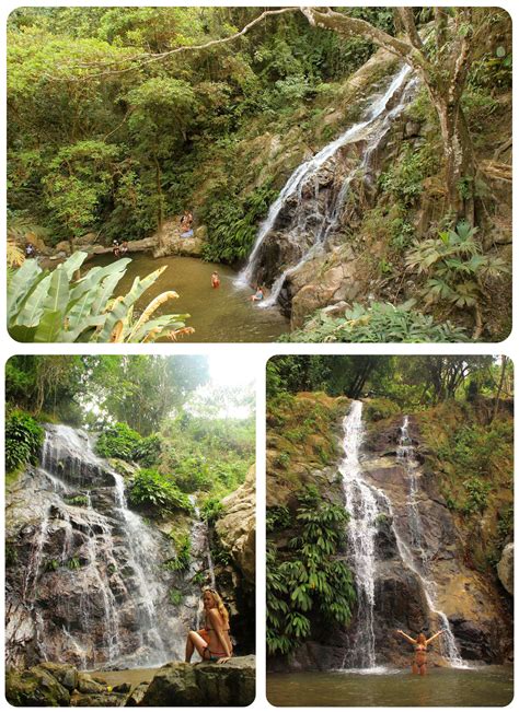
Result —
<path fill-rule="evenodd" d="M 282 441 L 272 433 L 267 434 L 267 442 L 277 448 L 282 446 Z M 346 448 L 349 446 L 345 444 Z M 299 447 L 302 451 L 307 445 Z M 298 470 L 297 462 L 292 455 L 290 476 L 286 476 L 292 488 L 309 481 L 309 475 Z M 278 464 L 278 450 L 268 452 L 267 463 L 273 469 L 267 480 L 267 505 L 291 506 Z M 377 664 L 400 667 L 410 664 L 412 647 L 396 630 L 411 635 L 431 634 L 445 628 L 447 621 L 463 660 L 506 662 L 512 651 L 510 612 L 492 576 L 484 576 L 465 564 L 463 535 L 438 490 L 438 477 L 425 465 L 415 420 L 397 417 L 372 423 L 362 440 L 359 468 L 374 494 L 379 512 L 368 523 L 373 532 L 372 631 Z M 323 498 L 335 502 L 338 499 L 346 506 L 341 485 L 337 486 L 337 471 L 336 466 L 335 477 L 333 471 L 323 477 L 324 472 L 315 469 L 310 481 L 319 487 Z M 351 512 L 349 507 L 348 511 Z M 281 530 L 277 539 L 273 535 L 281 551 L 287 537 L 293 534 Z M 351 557 L 351 547 L 349 542 L 346 557 Z M 333 631 L 314 627 L 310 641 L 288 660 L 272 661 L 270 666 L 278 670 L 357 667 L 364 621 L 365 617 L 354 610 L 347 630 L 337 630 L 336 626 Z M 446 665 L 449 655 L 448 646 L 435 641 L 429 662 Z"/>

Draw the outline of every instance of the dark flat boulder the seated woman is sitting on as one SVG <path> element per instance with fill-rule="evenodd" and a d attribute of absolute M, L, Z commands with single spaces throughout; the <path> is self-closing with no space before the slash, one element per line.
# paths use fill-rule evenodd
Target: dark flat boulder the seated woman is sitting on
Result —
<path fill-rule="evenodd" d="M 245 707 L 254 697 L 255 657 L 247 655 L 223 665 L 169 663 L 153 677 L 138 707 Z"/>

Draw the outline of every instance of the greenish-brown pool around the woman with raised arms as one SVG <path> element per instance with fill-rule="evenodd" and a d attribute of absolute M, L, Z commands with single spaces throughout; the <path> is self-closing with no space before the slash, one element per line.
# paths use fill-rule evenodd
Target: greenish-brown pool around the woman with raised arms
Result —
<path fill-rule="evenodd" d="M 277 707 L 504 707 L 512 697 L 512 666 L 432 668 L 424 677 L 401 670 L 267 676 L 267 698 Z"/>

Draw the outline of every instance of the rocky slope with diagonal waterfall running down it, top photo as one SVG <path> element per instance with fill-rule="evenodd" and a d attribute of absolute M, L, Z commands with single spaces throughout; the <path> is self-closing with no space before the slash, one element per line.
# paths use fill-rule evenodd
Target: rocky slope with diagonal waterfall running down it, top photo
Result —
<path fill-rule="evenodd" d="M 281 201 L 251 267 L 253 282 L 272 285 L 292 327 L 321 307 L 351 303 L 366 293 L 365 246 L 349 237 L 351 226 L 374 205 L 377 178 L 395 156 L 395 139 L 402 143 L 410 140 L 410 131 L 416 136 L 419 130 L 405 129 L 401 119 L 416 84 L 384 51 L 348 80 L 348 91 L 342 129 L 347 138 L 308 161 L 304 177 Z M 277 292 L 280 275 L 282 289 Z"/>

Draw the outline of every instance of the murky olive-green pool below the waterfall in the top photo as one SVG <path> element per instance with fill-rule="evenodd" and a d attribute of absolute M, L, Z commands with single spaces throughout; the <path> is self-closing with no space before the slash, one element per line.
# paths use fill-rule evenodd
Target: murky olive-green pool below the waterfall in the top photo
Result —
<path fill-rule="evenodd" d="M 134 279 L 146 277 L 164 265 L 168 269 L 146 292 L 137 308 L 142 310 L 161 292 L 174 290 L 180 299 L 171 300 L 158 310 L 155 315 L 164 313 L 191 314 L 186 326 L 193 326 L 195 334 L 183 336 L 180 343 L 186 341 L 274 341 L 288 330 L 288 322 L 276 310 L 262 310 L 249 301 L 252 290 L 238 288 L 234 283 L 237 273 L 224 265 L 204 262 L 194 257 L 161 257 L 153 259 L 146 253 L 130 254 L 131 262 L 125 277 L 120 280 L 116 295 L 125 294 L 131 288 Z M 96 255 L 86 262 L 86 267 L 113 261 L 112 255 Z M 211 272 L 218 271 L 221 284 L 211 288 Z"/>

